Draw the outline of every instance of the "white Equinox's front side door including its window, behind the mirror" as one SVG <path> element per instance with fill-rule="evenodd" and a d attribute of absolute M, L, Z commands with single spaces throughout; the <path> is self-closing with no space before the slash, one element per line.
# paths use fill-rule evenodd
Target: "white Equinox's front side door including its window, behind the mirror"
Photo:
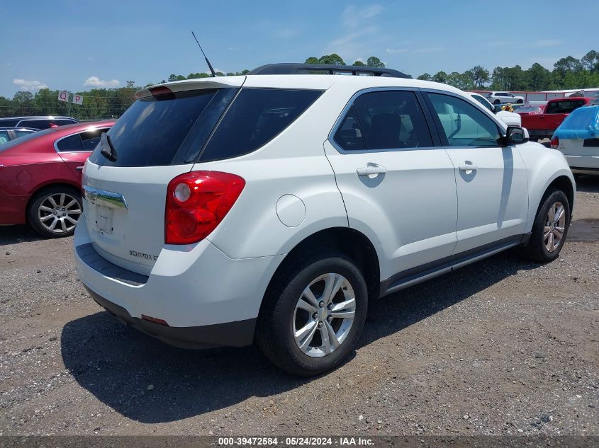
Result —
<path fill-rule="evenodd" d="M 528 188 L 517 148 L 500 146 L 498 124 L 463 98 L 435 92 L 426 95 L 455 167 L 454 253 L 521 236 L 528 214 Z"/>

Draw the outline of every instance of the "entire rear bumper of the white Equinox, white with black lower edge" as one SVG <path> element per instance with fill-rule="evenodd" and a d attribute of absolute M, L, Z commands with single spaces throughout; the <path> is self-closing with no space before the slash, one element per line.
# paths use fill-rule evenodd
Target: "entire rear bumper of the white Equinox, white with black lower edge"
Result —
<path fill-rule="evenodd" d="M 140 275 L 95 251 L 85 216 L 77 224 L 74 246 L 77 275 L 101 306 L 145 333 L 186 348 L 250 345 L 264 292 L 284 257 L 235 260 L 203 240 L 164 246 L 150 275 Z"/>

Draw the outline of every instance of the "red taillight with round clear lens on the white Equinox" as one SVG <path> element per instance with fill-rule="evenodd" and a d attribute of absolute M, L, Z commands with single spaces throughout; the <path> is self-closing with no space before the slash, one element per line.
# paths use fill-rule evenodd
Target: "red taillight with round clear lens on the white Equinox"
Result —
<path fill-rule="evenodd" d="M 169 182 L 164 243 L 190 244 L 206 238 L 223 221 L 245 180 L 220 171 L 191 171 Z"/>

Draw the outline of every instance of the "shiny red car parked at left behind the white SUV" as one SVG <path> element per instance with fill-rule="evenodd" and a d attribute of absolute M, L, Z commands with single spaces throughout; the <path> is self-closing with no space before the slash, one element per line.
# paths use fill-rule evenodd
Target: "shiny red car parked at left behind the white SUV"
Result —
<path fill-rule="evenodd" d="M 114 121 L 35 132 L 0 146 L 0 225 L 30 224 L 48 238 L 74 233 L 81 170 Z"/>

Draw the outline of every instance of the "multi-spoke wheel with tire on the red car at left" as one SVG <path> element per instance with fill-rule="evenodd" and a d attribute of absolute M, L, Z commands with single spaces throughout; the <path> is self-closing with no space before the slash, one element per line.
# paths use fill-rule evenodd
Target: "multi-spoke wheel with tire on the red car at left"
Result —
<path fill-rule="evenodd" d="M 45 238 L 72 236 L 81 214 L 81 194 L 62 185 L 35 193 L 27 209 L 30 226 Z"/>

